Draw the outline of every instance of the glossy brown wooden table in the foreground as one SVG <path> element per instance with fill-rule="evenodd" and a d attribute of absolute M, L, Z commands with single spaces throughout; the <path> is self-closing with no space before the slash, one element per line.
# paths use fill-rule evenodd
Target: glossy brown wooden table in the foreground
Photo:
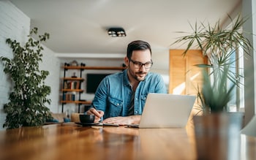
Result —
<path fill-rule="evenodd" d="M 256 158 L 256 138 L 241 137 L 242 159 Z M 133 129 L 61 123 L 0 132 L 1 160 L 196 159 L 187 129 Z"/>

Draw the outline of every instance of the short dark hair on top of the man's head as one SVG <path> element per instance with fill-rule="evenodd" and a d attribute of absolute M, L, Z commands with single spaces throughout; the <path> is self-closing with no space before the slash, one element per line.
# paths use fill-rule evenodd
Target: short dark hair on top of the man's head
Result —
<path fill-rule="evenodd" d="M 142 40 L 136 40 L 129 43 L 127 46 L 127 58 L 132 57 L 132 51 L 133 50 L 149 50 L 151 54 L 151 46 L 148 44 L 148 42 L 142 41 Z"/>

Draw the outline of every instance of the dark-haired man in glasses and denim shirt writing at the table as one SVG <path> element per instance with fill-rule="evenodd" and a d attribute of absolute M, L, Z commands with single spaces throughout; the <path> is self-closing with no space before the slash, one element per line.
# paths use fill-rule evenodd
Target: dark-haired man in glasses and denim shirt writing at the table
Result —
<path fill-rule="evenodd" d="M 162 77 L 149 72 L 153 61 L 148 42 L 130 42 L 124 62 L 127 69 L 108 75 L 99 84 L 92 107 L 86 112 L 95 115 L 94 122 L 103 118 L 103 123 L 139 123 L 148 93 L 167 93 Z"/>

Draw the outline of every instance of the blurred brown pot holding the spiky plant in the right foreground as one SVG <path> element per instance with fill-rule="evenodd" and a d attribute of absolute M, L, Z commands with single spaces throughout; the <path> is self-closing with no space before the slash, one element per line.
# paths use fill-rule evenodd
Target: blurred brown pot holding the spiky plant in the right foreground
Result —
<path fill-rule="evenodd" d="M 242 113 L 195 116 L 197 159 L 240 159 Z"/>

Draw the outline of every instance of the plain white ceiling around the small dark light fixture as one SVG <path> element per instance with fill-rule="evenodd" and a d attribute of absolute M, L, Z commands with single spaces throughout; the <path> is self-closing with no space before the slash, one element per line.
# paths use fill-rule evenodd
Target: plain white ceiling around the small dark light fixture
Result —
<path fill-rule="evenodd" d="M 152 50 L 170 46 L 191 32 L 189 23 L 216 23 L 240 9 L 241 0 L 10 0 L 31 18 L 31 28 L 50 34 L 45 44 L 55 53 L 126 53 L 127 44 L 146 40 Z M 122 27 L 127 37 L 109 37 Z"/>

